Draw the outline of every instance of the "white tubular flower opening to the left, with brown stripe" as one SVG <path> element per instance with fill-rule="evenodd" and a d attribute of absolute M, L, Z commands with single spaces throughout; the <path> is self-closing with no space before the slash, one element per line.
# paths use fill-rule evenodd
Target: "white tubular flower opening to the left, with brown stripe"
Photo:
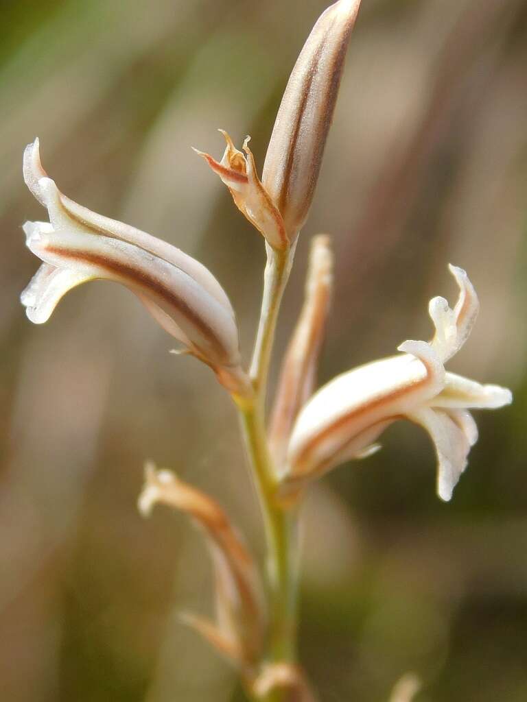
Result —
<path fill-rule="evenodd" d="M 41 166 L 38 139 L 26 147 L 24 180 L 50 219 L 23 227 L 28 248 L 43 261 L 21 296 L 32 322 L 47 322 L 60 298 L 77 285 L 119 282 L 189 353 L 211 366 L 223 385 L 245 392 L 233 308 L 207 268 L 166 241 L 63 195 Z"/>

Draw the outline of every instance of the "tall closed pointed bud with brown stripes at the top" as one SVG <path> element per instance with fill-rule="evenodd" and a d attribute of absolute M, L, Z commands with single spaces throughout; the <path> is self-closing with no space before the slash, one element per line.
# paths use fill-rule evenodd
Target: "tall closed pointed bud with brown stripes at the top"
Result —
<path fill-rule="evenodd" d="M 359 6 L 360 0 L 339 0 L 320 16 L 278 110 L 262 183 L 282 214 L 290 241 L 311 206 Z"/>

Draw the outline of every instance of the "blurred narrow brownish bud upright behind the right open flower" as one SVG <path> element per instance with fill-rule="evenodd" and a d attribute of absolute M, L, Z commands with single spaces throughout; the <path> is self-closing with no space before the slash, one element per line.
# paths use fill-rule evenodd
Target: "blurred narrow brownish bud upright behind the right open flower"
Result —
<path fill-rule="evenodd" d="M 330 237 L 319 234 L 311 242 L 306 293 L 297 326 L 285 352 L 276 393 L 269 442 L 278 465 L 285 459 L 294 420 L 315 389 L 333 282 Z"/>

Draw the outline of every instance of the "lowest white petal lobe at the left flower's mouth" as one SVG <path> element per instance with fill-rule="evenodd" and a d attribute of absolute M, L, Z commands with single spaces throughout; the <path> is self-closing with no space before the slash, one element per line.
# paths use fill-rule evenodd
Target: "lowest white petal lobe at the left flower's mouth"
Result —
<path fill-rule="evenodd" d="M 44 324 L 65 294 L 82 283 L 93 279 L 90 274 L 43 263 L 30 284 L 20 295 L 27 318 L 33 324 Z"/>

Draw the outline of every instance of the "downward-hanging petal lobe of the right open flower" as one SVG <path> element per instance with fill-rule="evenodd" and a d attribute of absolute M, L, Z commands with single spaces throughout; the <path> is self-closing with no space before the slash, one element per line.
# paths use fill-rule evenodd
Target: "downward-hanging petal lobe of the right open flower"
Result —
<path fill-rule="evenodd" d="M 442 500 L 449 501 L 467 466 L 470 442 L 460 426 L 441 410 L 422 407 L 407 416 L 426 429 L 434 442 L 438 460 L 437 493 Z"/>

